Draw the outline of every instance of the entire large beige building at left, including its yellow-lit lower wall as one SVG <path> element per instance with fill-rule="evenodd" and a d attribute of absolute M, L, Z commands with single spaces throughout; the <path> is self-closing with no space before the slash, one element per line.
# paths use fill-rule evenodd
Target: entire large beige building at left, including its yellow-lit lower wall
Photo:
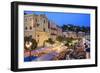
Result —
<path fill-rule="evenodd" d="M 32 36 L 37 41 L 38 47 L 43 46 L 44 41 L 48 40 L 50 36 L 46 16 L 35 14 L 24 15 L 24 36 Z"/>

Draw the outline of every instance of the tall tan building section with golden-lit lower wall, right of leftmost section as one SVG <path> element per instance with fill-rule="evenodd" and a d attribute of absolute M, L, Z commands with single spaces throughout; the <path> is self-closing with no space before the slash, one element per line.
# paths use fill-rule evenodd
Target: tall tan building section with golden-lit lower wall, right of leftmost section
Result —
<path fill-rule="evenodd" d="M 44 45 L 45 40 L 48 40 L 50 33 L 48 29 L 48 19 L 45 15 L 37 16 L 37 26 L 36 26 L 36 41 L 38 46 L 41 47 Z"/>

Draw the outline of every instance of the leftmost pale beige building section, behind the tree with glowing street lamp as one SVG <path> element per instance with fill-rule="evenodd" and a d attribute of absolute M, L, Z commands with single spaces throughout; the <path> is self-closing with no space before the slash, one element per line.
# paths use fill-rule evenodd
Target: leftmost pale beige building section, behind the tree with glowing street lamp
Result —
<path fill-rule="evenodd" d="M 24 15 L 24 36 L 35 39 L 36 15 Z"/>

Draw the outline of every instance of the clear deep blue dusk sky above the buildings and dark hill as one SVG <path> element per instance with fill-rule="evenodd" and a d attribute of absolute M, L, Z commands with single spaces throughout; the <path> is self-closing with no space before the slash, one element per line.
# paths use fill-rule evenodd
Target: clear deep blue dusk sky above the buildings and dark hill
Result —
<path fill-rule="evenodd" d="M 27 14 L 45 14 L 49 20 L 52 20 L 57 25 L 74 24 L 77 26 L 90 26 L 90 14 L 83 13 L 61 13 L 61 12 L 37 12 L 24 11 Z"/>

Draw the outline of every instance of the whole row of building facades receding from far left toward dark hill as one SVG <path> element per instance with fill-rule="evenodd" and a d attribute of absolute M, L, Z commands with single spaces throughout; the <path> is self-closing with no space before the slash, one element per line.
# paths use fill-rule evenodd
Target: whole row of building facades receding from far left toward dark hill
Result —
<path fill-rule="evenodd" d="M 51 38 L 53 41 L 58 36 L 66 38 L 83 37 L 84 33 L 78 34 L 74 31 L 62 31 L 62 28 L 53 21 L 49 20 L 46 15 L 25 14 L 24 15 L 24 36 L 31 36 L 38 43 L 38 47 L 44 45 L 45 40 Z"/>

